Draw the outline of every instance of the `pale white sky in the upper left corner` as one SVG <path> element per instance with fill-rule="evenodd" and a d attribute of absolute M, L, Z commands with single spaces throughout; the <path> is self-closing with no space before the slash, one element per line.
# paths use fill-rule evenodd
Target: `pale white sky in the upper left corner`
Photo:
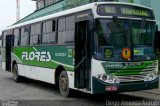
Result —
<path fill-rule="evenodd" d="M 0 0 L 0 35 L 2 30 L 16 22 L 16 1 Z M 36 4 L 32 0 L 20 1 L 20 19 L 34 12 Z"/>

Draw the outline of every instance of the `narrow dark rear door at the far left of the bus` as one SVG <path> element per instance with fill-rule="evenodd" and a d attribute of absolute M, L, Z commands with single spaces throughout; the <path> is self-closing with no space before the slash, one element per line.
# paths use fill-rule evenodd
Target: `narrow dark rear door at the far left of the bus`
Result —
<path fill-rule="evenodd" d="M 14 35 L 6 36 L 6 71 L 11 71 L 11 52 L 14 42 Z"/>

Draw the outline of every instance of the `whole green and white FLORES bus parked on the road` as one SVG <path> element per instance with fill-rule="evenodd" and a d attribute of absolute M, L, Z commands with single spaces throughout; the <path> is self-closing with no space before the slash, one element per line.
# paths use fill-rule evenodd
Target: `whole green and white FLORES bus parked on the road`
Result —
<path fill-rule="evenodd" d="M 151 8 L 93 2 L 8 27 L 2 68 L 74 90 L 107 94 L 158 88 L 156 21 Z"/>

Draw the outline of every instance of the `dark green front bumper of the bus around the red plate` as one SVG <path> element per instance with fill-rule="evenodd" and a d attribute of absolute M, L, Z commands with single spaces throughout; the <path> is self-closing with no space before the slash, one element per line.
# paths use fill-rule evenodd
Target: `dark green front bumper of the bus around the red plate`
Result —
<path fill-rule="evenodd" d="M 110 92 L 129 92 L 138 90 L 155 89 L 159 86 L 159 77 L 153 81 L 148 82 L 132 82 L 132 83 L 120 83 L 120 84 L 108 84 L 100 81 L 99 79 L 92 77 L 92 93 L 93 94 L 105 94 Z M 107 90 L 107 87 L 116 87 L 114 90 Z"/>

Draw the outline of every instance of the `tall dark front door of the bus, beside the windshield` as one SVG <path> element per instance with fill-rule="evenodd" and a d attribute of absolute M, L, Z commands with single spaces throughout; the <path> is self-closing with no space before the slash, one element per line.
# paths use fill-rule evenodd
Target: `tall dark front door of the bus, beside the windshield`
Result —
<path fill-rule="evenodd" d="M 91 44 L 89 21 L 76 22 L 75 87 L 90 89 Z"/>

